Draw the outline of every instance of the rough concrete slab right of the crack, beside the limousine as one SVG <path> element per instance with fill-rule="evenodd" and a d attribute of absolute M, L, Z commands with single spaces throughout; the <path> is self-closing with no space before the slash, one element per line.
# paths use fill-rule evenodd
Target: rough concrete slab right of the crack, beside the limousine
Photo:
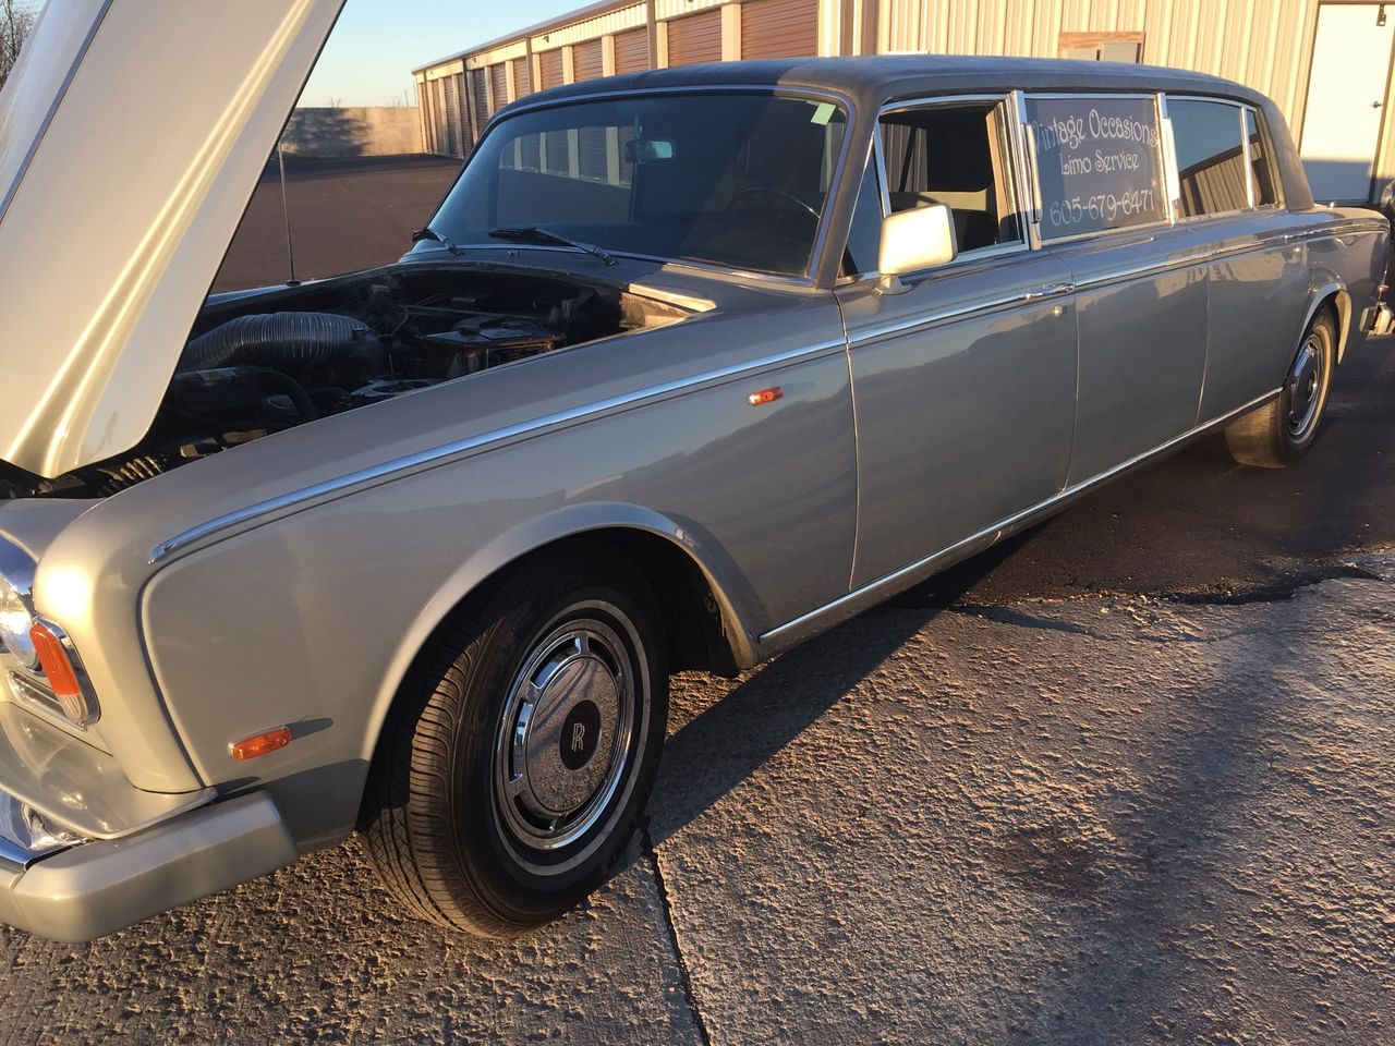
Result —
<path fill-rule="evenodd" d="M 1363 569 L 876 611 L 685 679 L 653 831 L 711 1040 L 1395 1035 L 1395 559 Z"/>

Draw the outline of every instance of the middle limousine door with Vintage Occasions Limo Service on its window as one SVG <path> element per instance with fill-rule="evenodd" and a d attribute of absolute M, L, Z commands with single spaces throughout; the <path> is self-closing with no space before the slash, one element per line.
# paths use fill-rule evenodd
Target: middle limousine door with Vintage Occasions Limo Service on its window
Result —
<path fill-rule="evenodd" d="M 1074 487 L 1196 425 L 1209 250 L 1170 222 L 1155 95 L 1028 95 L 1023 114 L 1042 254 L 1076 285 Z"/>

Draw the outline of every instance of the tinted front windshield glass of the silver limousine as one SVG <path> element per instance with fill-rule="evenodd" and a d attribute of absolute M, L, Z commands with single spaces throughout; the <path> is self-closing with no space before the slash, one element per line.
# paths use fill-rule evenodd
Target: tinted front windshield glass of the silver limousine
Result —
<path fill-rule="evenodd" d="M 541 232 L 615 254 L 802 275 L 845 130 L 833 102 L 764 93 L 526 112 L 490 131 L 431 230 L 459 248 L 548 243 Z"/>

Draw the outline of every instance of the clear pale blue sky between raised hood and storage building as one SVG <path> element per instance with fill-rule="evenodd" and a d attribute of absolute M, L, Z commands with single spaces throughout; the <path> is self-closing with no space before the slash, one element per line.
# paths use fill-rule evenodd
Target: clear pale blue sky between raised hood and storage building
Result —
<path fill-rule="evenodd" d="M 347 0 L 303 106 L 416 103 L 412 70 L 590 0 Z"/>

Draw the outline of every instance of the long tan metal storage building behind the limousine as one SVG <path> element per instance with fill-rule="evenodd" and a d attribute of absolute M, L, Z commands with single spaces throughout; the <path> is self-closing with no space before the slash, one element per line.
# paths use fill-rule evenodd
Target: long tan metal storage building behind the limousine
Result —
<path fill-rule="evenodd" d="M 1395 177 L 1395 3 L 1350 0 L 601 0 L 414 70 L 431 152 L 463 156 L 541 88 L 696 61 L 799 54 L 1024 54 L 1144 61 L 1258 88 L 1320 199 Z"/>

